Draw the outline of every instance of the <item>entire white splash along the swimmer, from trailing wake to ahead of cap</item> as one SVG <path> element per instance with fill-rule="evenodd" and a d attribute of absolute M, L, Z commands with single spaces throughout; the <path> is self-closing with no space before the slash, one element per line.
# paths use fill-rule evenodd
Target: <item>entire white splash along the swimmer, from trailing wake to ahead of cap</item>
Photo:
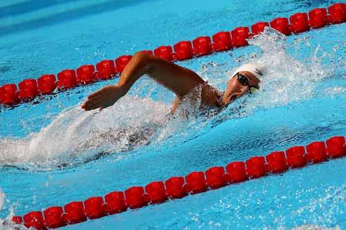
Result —
<path fill-rule="evenodd" d="M 257 110 L 309 99 L 318 82 L 333 73 L 330 68 L 322 66 L 324 56 L 318 55 L 322 52 L 320 48 L 312 50 L 309 59 L 299 61 L 287 51 L 296 48 L 298 42 L 287 44 L 286 37 L 271 28 L 266 28 L 248 43 L 260 51 L 239 57 L 235 62 L 253 61 L 267 66 L 268 73 L 262 79 L 261 89 L 255 95 L 238 99 L 214 119 L 196 116 L 200 102 L 191 103 L 189 99 L 181 104 L 176 115 L 167 117 L 170 104 L 137 97 L 139 93 L 136 93 L 134 97 L 123 97 L 116 105 L 100 113 L 85 113 L 79 107 L 69 108 L 39 133 L 25 139 L 0 140 L 0 165 L 49 169 L 86 162 L 100 155 L 124 153 L 152 143 L 176 144 L 201 135 L 208 131 L 206 126 L 225 119 L 241 118 Z M 222 88 L 235 68 L 229 66 L 229 62 L 212 62 L 203 64 L 199 72 L 211 84 Z M 147 90 L 146 86 L 143 87 L 139 90 Z M 186 111 L 191 112 L 188 119 L 185 119 Z M 168 142 L 167 138 L 174 135 L 179 136 L 176 141 Z"/>

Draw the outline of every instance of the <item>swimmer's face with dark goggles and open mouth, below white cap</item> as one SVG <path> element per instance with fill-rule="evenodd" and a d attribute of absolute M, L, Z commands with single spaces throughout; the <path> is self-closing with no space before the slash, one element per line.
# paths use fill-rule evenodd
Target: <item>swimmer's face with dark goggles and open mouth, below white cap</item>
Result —
<path fill-rule="evenodd" d="M 255 77 L 255 75 L 253 75 L 251 72 L 241 71 L 239 72 L 239 74 L 247 78 L 248 84 L 244 85 L 244 82 L 243 84 L 239 82 L 237 75 L 232 77 L 227 82 L 227 88 L 222 97 L 222 103 L 224 105 L 229 104 L 233 102 L 235 99 L 237 99 L 238 97 L 242 97 L 242 95 L 248 93 L 251 86 L 255 88 L 259 88 L 260 79 Z"/>

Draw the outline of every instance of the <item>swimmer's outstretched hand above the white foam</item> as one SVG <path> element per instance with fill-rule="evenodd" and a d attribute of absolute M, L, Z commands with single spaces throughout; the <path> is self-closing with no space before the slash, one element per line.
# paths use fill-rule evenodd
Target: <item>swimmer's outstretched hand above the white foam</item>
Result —
<path fill-rule="evenodd" d="M 118 85 L 105 86 L 95 93 L 89 95 L 86 102 L 82 105 L 84 111 L 92 111 L 93 109 L 100 108 L 100 111 L 103 108 L 113 106 L 118 99 L 124 96 L 127 93 L 125 87 Z"/>

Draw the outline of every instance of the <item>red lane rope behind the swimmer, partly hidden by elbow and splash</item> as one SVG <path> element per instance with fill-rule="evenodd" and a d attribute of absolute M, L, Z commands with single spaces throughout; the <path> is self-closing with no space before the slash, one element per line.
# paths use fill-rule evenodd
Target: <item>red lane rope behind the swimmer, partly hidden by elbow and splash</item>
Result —
<path fill-rule="evenodd" d="M 264 27 L 271 26 L 284 35 L 306 32 L 310 29 L 318 29 L 329 24 L 344 23 L 346 21 L 346 4 L 335 3 L 326 8 L 316 8 L 308 13 L 298 12 L 289 17 L 278 17 L 271 22 L 257 22 L 251 26 L 251 32 L 248 27 L 235 28 L 232 31 L 221 31 L 208 36 L 197 37 L 191 41 L 179 41 L 172 46 L 160 46 L 152 50 L 143 50 L 141 52 L 154 54 L 167 61 L 183 61 L 210 55 L 212 52 L 221 52 L 232 48 L 248 45 L 246 39 L 263 32 Z M 124 70 L 132 56 L 120 56 L 115 61 L 103 60 L 93 65 L 80 66 L 75 70 L 62 70 L 55 75 L 43 75 L 37 81 L 35 79 L 26 79 L 19 83 L 19 90 L 15 84 L 5 84 L 0 87 L 0 104 L 5 106 L 14 106 L 21 102 L 30 102 L 38 95 L 47 95 L 57 90 L 68 90 L 75 86 L 91 84 L 96 81 L 111 79 L 119 76 Z M 48 77 L 50 76 L 50 77 Z"/>

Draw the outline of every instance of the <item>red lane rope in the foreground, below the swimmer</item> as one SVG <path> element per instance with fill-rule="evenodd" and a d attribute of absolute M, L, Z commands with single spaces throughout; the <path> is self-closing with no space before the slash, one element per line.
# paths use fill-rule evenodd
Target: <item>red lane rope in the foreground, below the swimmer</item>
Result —
<path fill-rule="evenodd" d="M 312 142 L 306 147 L 293 146 L 286 151 L 272 152 L 265 157 L 251 157 L 246 162 L 231 162 L 224 167 L 215 166 L 206 172 L 192 172 L 183 177 L 173 177 L 165 182 L 156 181 L 146 186 L 133 186 L 124 192 L 113 191 L 102 197 L 91 197 L 84 202 L 70 202 L 62 207 L 49 207 L 43 213 L 31 211 L 21 218 L 14 216 L 12 222 L 34 229 L 55 229 L 66 224 L 102 218 L 105 215 L 139 209 L 148 204 L 158 204 L 168 199 L 180 199 L 208 189 L 218 189 L 261 178 L 268 173 L 282 173 L 307 164 L 316 164 L 336 157 L 346 156 L 345 137 L 331 137 L 327 142 Z"/>

